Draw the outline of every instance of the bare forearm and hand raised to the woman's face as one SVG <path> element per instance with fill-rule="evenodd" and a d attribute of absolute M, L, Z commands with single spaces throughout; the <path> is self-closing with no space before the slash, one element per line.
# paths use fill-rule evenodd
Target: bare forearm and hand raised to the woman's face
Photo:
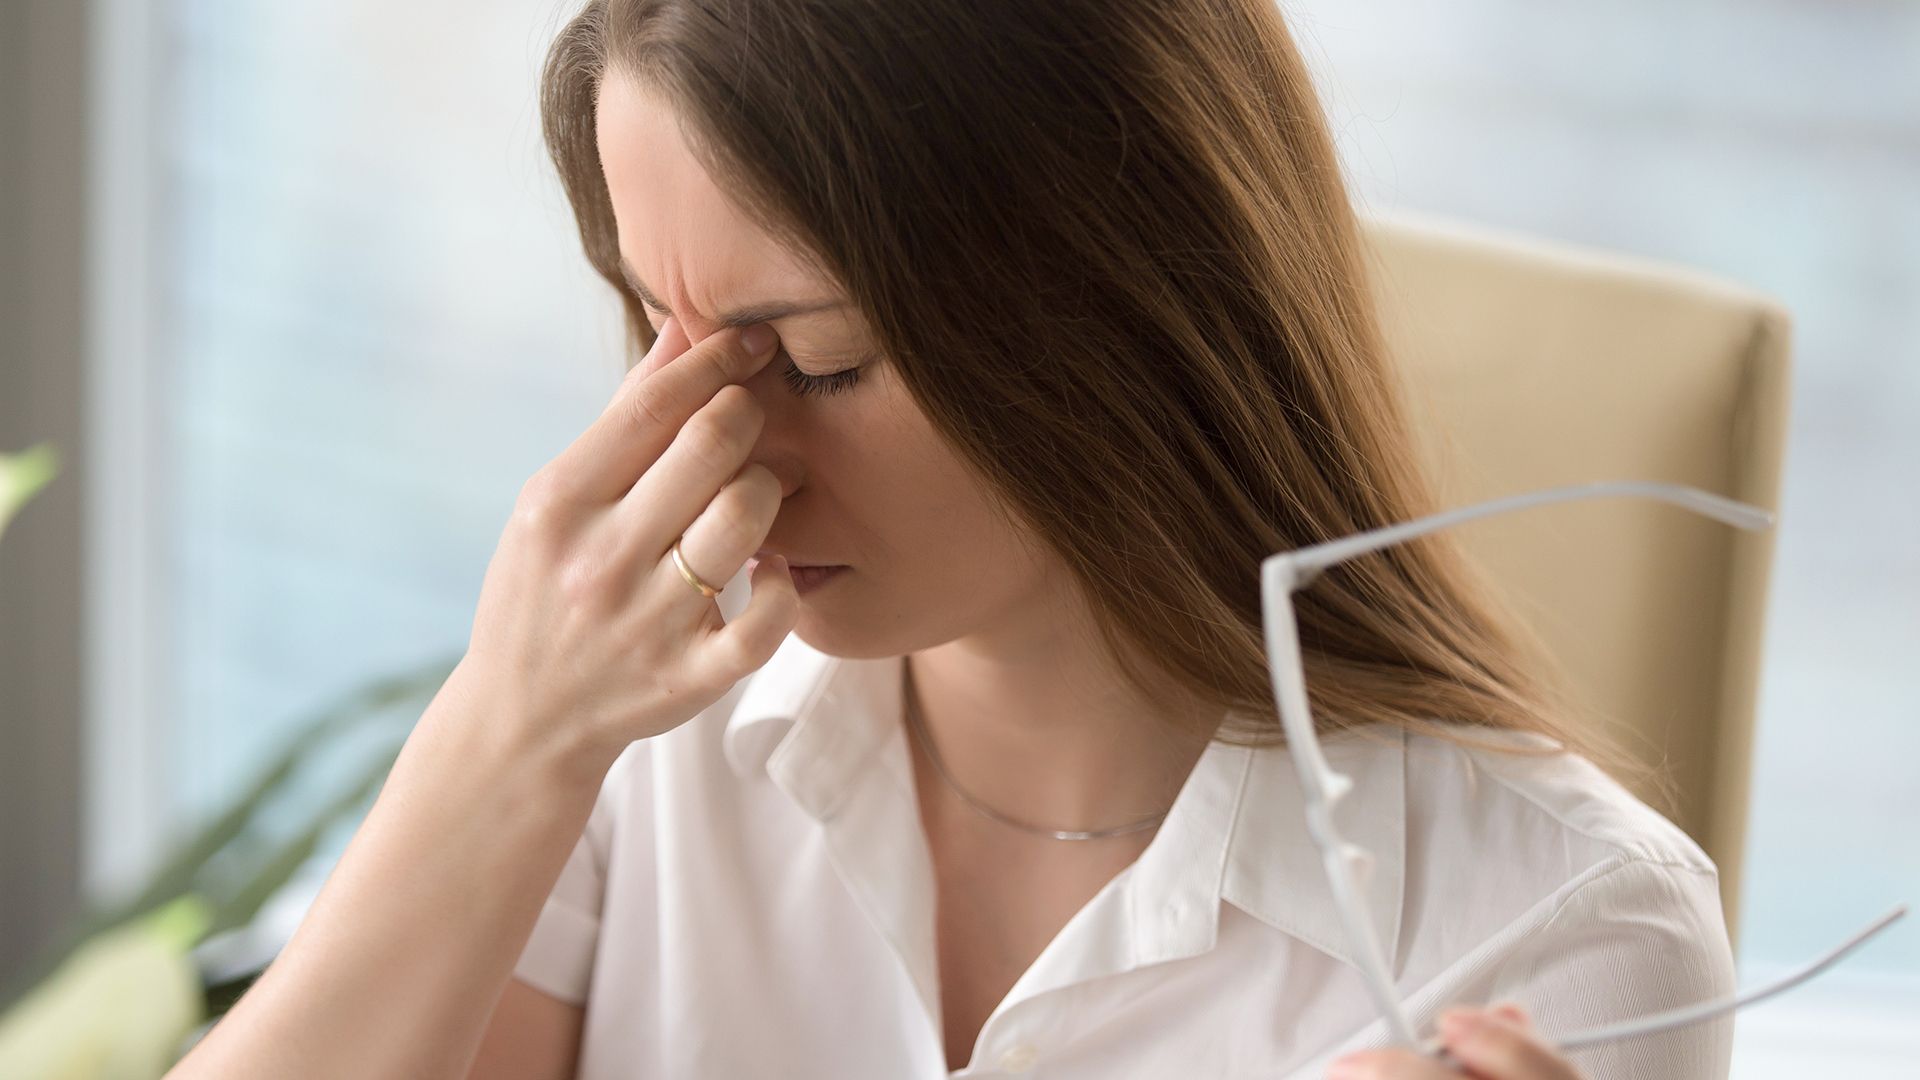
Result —
<path fill-rule="evenodd" d="M 465 1076 L 580 842 L 607 769 L 766 663 L 799 596 L 755 567 L 732 623 L 714 586 L 753 555 L 780 482 L 741 463 L 766 365 L 668 321 L 612 404 L 520 488 L 472 640 L 273 967 L 167 1076 Z M 589 753 L 584 753 L 589 751 Z"/>

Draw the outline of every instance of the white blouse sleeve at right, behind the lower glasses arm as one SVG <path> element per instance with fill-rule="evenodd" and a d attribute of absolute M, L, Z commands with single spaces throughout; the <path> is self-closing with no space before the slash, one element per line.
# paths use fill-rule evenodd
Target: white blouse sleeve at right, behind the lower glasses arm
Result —
<path fill-rule="evenodd" d="M 1519 1001 L 1546 1034 L 1613 1024 L 1734 994 L 1718 874 L 1628 859 L 1582 884 L 1515 949 L 1492 1001 Z M 1724 1080 L 1734 1020 L 1569 1051 L 1588 1080 Z"/>

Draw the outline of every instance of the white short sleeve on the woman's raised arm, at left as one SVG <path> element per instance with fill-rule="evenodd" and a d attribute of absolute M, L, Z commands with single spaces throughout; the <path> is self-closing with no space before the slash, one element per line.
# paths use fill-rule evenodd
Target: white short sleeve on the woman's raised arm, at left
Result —
<path fill-rule="evenodd" d="M 574 1005 L 586 1005 L 593 976 L 618 774 L 618 767 L 611 769 L 601 784 L 593 813 L 588 815 L 588 824 L 566 865 L 561 867 L 561 876 L 547 894 L 534 932 L 513 969 L 513 976 L 520 982 Z"/>

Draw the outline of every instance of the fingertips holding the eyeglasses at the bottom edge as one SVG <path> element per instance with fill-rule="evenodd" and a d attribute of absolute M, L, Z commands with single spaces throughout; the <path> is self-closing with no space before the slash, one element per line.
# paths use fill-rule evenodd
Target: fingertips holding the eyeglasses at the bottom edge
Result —
<path fill-rule="evenodd" d="M 1448 1009 L 1440 1042 L 1478 1080 L 1580 1080 L 1534 1032 L 1519 1005 Z M 1369 1049 L 1332 1063 L 1327 1080 L 1457 1080 L 1459 1070 L 1409 1049 Z"/>

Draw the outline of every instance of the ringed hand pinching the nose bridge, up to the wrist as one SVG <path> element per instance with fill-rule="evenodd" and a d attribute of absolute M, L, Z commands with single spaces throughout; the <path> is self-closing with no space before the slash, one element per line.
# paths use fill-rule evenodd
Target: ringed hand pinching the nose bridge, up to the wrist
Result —
<path fill-rule="evenodd" d="M 720 588 L 766 542 L 780 480 L 745 465 L 764 413 L 743 382 L 774 354 L 745 331 L 687 346 L 668 319 L 612 402 L 522 488 L 480 586 L 449 690 L 511 746 L 605 769 L 764 665 L 799 617 L 787 565 L 755 567 L 728 623 Z M 751 344 L 758 344 L 755 350 Z"/>

